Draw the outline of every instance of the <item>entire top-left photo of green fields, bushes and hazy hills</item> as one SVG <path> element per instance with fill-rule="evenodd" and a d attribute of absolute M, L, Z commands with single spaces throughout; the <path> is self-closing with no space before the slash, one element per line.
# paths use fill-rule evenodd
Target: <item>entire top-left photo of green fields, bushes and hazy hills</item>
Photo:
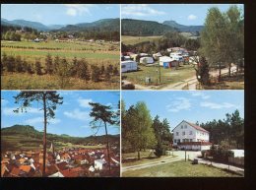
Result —
<path fill-rule="evenodd" d="M 118 4 L 2 4 L 2 90 L 119 90 Z"/>

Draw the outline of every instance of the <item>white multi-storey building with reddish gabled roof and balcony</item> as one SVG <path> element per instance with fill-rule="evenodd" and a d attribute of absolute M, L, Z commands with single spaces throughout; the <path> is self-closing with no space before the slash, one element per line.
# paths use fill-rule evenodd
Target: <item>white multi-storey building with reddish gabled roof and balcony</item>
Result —
<path fill-rule="evenodd" d="M 173 146 L 186 150 L 209 150 L 209 132 L 204 128 L 181 121 L 173 130 Z"/>

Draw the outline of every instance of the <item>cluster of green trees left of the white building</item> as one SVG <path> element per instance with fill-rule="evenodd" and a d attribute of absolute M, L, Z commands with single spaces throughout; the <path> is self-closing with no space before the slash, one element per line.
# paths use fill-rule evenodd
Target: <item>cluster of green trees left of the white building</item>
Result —
<path fill-rule="evenodd" d="M 146 149 L 155 150 L 157 157 L 164 155 L 172 142 L 167 119 L 160 121 L 158 115 L 152 119 L 143 101 L 138 101 L 126 110 L 122 100 L 121 106 L 122 151 L 137 152 L 138 159 L 141 158 L 140 152 Z"/>

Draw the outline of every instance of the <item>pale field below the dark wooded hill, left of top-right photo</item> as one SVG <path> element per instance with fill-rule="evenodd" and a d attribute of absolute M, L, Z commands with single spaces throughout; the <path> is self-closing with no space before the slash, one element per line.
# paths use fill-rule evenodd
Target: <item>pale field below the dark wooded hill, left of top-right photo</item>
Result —
<path fill-rule="evenodd" d="M 156 39 L 160 39 L 161 35 L 153 35 L 153 36 L 129 36 L 122 35 L 121 41 L 125 45 L 134 45 L 136 43 L 140 43 L 143 41 L 154 41 Z"/>

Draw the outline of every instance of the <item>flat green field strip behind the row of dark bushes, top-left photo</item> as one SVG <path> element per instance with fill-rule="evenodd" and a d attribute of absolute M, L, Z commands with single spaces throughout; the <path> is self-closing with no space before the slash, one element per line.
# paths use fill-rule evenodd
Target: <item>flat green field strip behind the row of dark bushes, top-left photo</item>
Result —
<path fill-rule="evenodd" d="M 119 61 L 119 44 L 110 42 L 31 42 L 31 41 L 1 41 L 1 55 L 21 55 L 28 61 L 34 61 L 35 58 L 42 58 L 49 53 L 52 56 L 59 55 L 66 57 L 68 60 L 77 58 L 89 59 L 92 63 L 97 62 L 118 62 Z"/>

